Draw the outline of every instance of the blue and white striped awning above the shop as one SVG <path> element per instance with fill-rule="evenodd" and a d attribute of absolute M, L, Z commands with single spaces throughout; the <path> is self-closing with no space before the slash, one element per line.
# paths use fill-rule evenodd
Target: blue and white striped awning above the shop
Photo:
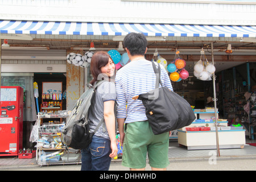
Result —
<path fill-rule="evenodd" d="M 1 34 L 127 35 L 256 38 L 256 26 L 0 20 Z"/>

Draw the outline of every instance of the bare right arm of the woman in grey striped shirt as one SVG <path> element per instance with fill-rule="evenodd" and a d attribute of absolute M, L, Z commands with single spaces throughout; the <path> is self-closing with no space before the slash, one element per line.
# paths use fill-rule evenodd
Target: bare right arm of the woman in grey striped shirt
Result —
<path fill-rule="evenodd" d="M 112 153 L 109 155 L 110 158 L 117 156 L 117 143 L 115 141 L 115 115 L 114 115 L 114 104 L 115 101 L 105 101 L 104 102 L 104 119 L 106 127 L 108 129 L 109 138 L 111 141 Z"/>

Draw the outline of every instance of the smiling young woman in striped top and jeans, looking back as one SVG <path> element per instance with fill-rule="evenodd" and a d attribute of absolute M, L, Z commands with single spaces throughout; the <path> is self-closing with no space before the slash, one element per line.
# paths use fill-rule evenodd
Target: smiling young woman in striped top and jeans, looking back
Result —
<path fill-rule="evenodd" d="M 108 171 L 111 158 L 117 155 L 115 142 L 115 83 L 111 77 L 115 73 L 115 64 L 107 52 L 96 52 L 90 63 L 90 71 L 93 85 L 97 81 L 104 80 L 98 85 L 94 101 L 89 110 L 90 130 L 94 130 L 104 117 L 104 122 L 94 134 L 92 143 L 82 149 L 81 171 Z"/>

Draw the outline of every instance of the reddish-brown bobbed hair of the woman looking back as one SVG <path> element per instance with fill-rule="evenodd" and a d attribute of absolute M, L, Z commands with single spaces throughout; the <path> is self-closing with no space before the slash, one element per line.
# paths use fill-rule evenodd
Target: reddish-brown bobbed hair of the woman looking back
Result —
<path fill-rule="evenodd" d="M 109 58 L 112 60 L 108 52 L 98 51 L 92 56 L 90 61 L 90 72 L 92 73 L 93 79 L 90 84 L 94 84 L 98 80 L 98 76 L 101 74 L 101 67 L 104 67 L 109 63 Z M 113 61 L 114 63 L 114 61 Z"/>

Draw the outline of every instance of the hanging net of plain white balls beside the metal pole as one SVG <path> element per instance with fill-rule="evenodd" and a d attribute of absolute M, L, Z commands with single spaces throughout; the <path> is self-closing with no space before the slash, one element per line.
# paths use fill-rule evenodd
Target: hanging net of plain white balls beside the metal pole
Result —
<path fill-rule="evenodd" d="M 199 80 L 209 81 L 212 80 L 211 76 L 215 70 L 214 65 L 208 62 L 202 48 L 200 60 L 194 65 L 194 76 Z"/>

